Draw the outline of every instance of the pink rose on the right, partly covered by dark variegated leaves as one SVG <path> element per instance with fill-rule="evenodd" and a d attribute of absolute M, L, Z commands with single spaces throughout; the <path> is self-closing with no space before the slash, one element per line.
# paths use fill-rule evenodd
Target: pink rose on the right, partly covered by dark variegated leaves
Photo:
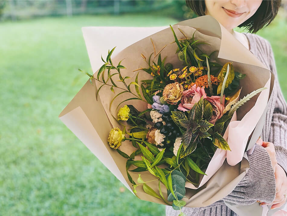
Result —
<path fill-rule="evenodd" d="M 222 97 L 222 104 L 220 103 L 220 96 L 211 96 L 211 97 L 206 97 L 206 100 L 210 102 L 212 106 L 212 116 L 209 119 L 209 122 L 211 124 L 214 124 L 218 118 L 221 118 L 223 115 L 223 110 L 224 110 L 224 101 L 225 101 L 225 96 L 223 95 Z"/>

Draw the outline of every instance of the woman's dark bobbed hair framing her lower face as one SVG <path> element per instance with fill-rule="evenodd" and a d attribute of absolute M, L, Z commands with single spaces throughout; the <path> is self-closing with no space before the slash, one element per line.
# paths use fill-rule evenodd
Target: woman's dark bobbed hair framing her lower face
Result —
<path fill-rule="evenodd" d="M 204 0 L 185 0 L 185 2 L 198 16 L 205 15 Z M 246 27 L 251 33 L 258 32 L 265 25 L 269 25 L 276 17 L 280 4 L 281 0 L 263 0 L 255 14 L 238 27 Z"/>

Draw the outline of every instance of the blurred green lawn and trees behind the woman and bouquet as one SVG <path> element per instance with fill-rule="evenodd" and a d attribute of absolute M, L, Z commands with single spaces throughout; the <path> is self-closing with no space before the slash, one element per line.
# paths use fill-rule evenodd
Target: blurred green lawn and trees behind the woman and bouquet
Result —
<path fill-rule="evenodd" d="M 185 1 L 0 0 L 0 215 L 165 215 L 128 191 L 58 115 L 88 79 L 78 68 L 92 73 L 81 27 L 194 17 Z M 257 34 L 272 45 L 285 98 L 286 32 L 282 1 Z"/>

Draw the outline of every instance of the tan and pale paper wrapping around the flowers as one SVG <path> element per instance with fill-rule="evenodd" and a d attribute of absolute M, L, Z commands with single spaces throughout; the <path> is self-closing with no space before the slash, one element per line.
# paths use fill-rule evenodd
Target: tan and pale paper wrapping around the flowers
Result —
<path fill-rule="evenodd" d="M 191 38 L 192 34 L 197 29 L 198 31 L 195 32 L 195 38 L 211 44 L 211 46 L 201 45 L 200 48 L 203 52 L 210 54 L 214 50 L 219 50 L 219 52 L 216 52 L 216 55 L 213 55 L 211 61 L 216 61 L 221 65 L 232 61 L 235 71 L 247 74 L 243 82 L 240 83 L 240 85 L 243 86 L 240 98 L 258 88 L 264 86 L 268 88 L 263 90 L 259 95 L 254 96 L 250 101 L 241 106 L 237 112 L 235 112 L 237 120 L 233 119 L 234 121 L 231 123 L 236 125 L 232 125 L 232 127 L 229 128 L 230 130 L 233 130 L 232 128 L 236 128 L 236 126 L 240 124 L 240 120 L 244 118 L 252 107 L 256 106 L 256 102 L 259 101 L 257 98 L 261 95 L 262 100 L 258 103 L 264 106 L 262 108 L 258 107 L 258 119 L 254 120 L 253 129 L 248 131 L 245 135 L 240 134 L 243 138 L 242 145 L 244 144 L 244 146 L 238 147 L 240 151 L 243 149 L 243 151 L 240 152 L 240 154 L 242 153 L 241 156 L 239 156 L 239 158 L 237 157 L 238 162 L 235 164 L 228 163 L 227 152 L 218 149 L 217 155 L 221 155 L 219 157 L 219 161 L 221 161 L 220 163 L 222 166 L 220 164 L 215 173 L 213 175 L 210 174 L 208 180 L 201 185 L 200 188 L 195 188 L 192 184 L 186 184 L 187 198 L 183 199 L 187 203 L 186 207 L 204 207 L 230 194 L 248 171 L 249 162 L 244 149 L 248 144 L 248 138 L 251 138 L 251 141 L 256 141 L 260 135 L 258 135 L 258 133 L 260 132 L 261 125 L 263 126 L 264 123 L 262 123 L 262 119 L 264 119 L 264 115 L 266 115 L 264 111 L 272 91 L 274 77 L 261 61 L 259 61 L 250 51 L 237 41 L 236 38 L 227 32 L 227 30 L 213 17 L 206 15 L 185 20 L 173 25 L 173 29 L 175 30 L 177 37 L 181 39 L 184 38 L 184 36 L 179 32 L 178 28 L 180 28 L 188 38 Z M 114 65 L 117 65 L 118 62 L 123 59 L 121 65 L 124 65 L 127 68 L 124 70 L 121 69 L 123 77 L 129 76 L 131 77 L 131 81 L 134 81 L 137 72 L 139 72 L 139 81 L 143 79 L 151 79 L 151 76 L 145 71 L 132 72 L 137 68 L 147 67 L 146 62 L 140 57 L 140 54 L 143 53 L 148 58 L 153 52 L 150 38 L 152 38 L 155 43 L 156 52 L 167 44 L 166 48 L 161 52 L 162 59 L 167 56 L 165 61 L 166 63 L 172 63 L 174 68 L 183 67 L 182 63 L 179 62 L 175 55 L 177 45 L 176 43 L 171 44 L 171 42 L 174 41 L 174 37 L 168 26 L 151 28 L 84 27 L 82 28 L 82 31 L 91 61 L 92 70 L 95 75 L 103 64 L 101 61 L 101 54 L 103 55 L 103 58 L 105 58 L 107 50 L 111 50 L 114 46 L 117 46 L 111 60 Z M 155 61 L 156 60 L 157 58 Z M 111 111 L 109 111 L 110 101 L 115 95 L 110 91 L 109 87 L 106 88 L 106 86 L 103 86 L 99 92 L 98 101 L 96 101 L 95 93 L 100 84 L 101 83 L 98 81 L 95 82 L 93 80 L 93 85 L 91 85 L 89 81 L 87 81 L 73 100 L 61 112 L 59 118 L 92 151 L 92 153 L 130 191 L 132 191 L 132 185 L 128 181 L 126 174 L 126 159 L 119 155 L 117 151 L 111 149 L 107 144 L 107 137 L 111 128 L 122 128 L 121 125 L 119 125 L 112 117 L 112 115 L 116 116 L 116 106 L 121 101 L 131 98 L 132 95 L 125 93 L 117 97 L 113 102 Z M 119 84 L 118 86 L 121 85 Z M 115 92 L 117 94 L 120 91 L 115 89 Z M 124 104 L 125 103 L 122 105 Z M 147 108 L 146 103 L 140 100 L 127 101 L 126 104 L 134 105 L 134 107 L 140 111 Z M 254 132 L 251 134 L 253 130 Z M 225 138 L 229 138 L 227 137 L 227 134 L 225 134 Z M 249 143 L 248 149 L 249 148 L 252 148 L 252 143 Z M 125 141 L 122 143 L 120 150 L 127 154 L 131 154 L 135 148 L 129 141 Z M 236 156 L 237 152 L 232 151 L 231 155 L 232 154 Z M 227 159 L 222 157 L 222 155 L 227 157 Z M 140 155 L 136 157 L 140 157 Z M 222 158 L 224 158 L 224 160 Z M 135 158 L 135 160 L 136 159 L 137 158 Z M 215 160 L 216 157 L 212 159 Z M 130 172 L 130 174 L 134 181 L 136 181 L 138 173 Z M 149 172 L 142 172 L 141 177 L 144 181 L 149 181 L 155 178 Z M 150 182 L 148 185 L 158 193 L 158 182 Z M 161 184 L 161 186 L 162 188 L 165 188 L 163 184 Z M 163 190 L 163 195 L 167 197 L 165 189 Z M 146 194 L 141 186 L 137 187 L 137 196 L 146 201 L 165 204 L 162 200 Z"/>

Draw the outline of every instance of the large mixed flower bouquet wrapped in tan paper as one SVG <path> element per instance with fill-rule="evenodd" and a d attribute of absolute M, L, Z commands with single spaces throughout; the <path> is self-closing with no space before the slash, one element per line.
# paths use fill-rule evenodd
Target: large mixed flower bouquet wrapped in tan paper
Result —
<path fill-rule="evenodd" d="M 227 196 L 249 168 L 270 71 L 211 16 L 114 50 L 61 120 L 140 199 L 180 210 Z"/>

